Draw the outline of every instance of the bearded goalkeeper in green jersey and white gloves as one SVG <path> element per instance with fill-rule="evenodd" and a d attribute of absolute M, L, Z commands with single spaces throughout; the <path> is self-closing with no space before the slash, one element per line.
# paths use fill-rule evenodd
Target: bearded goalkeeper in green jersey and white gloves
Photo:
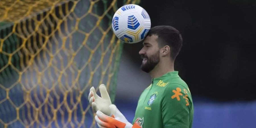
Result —
<path fill-rule="evenodd" d="M 187 84 L 174 70 L 174 61 L 182 46 L 182 37 L 171 26 L 150 29 L 139 51 L 141 69 L 149 73 L 152 83 L 142 92 L 135 117 L 129 123 L 115 105 L 111 104 L 104 85 L 101 96 L 92 87 L 89 100 L 97 111 L 99 127 L 107 128 L 191 128 L 194 106 Z"/>

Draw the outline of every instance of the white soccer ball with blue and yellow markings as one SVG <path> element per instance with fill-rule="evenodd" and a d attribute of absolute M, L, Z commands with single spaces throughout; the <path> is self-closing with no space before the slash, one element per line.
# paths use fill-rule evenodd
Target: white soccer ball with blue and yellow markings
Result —
<path fill-rule="evenodd" d="M 112 29 L 117 38 L 129 44 L 143 40 L 150 27 L 150 17 L 139 5 L 124 5 L 115 12 L 112 19 Z"/>

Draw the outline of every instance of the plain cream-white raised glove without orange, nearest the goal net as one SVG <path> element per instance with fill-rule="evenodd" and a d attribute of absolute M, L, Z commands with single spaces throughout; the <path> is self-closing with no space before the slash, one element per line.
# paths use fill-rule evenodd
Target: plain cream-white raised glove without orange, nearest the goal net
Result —
<path fill-rule="evenodd" d="M 111 115 L 109 106 L 111 104 L 110 97 L 108 95 L 108 91 L 106 89 L 106 86 L 104 84 L 101 84 L 99 87 L 100 90 L 100 96 L 98 96 L 95 92 L 94 87 L 90 89 L 90 93 L 88 96 L 88 100 L 90 103 L 90 106 L 92 107 L 92 110 L 94 112 L 101 111 L 106 115 Z"/>

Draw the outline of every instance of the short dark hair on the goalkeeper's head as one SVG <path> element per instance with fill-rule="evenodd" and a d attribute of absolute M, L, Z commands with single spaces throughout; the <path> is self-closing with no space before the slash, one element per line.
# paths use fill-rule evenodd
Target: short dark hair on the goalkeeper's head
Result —
<path fill-rule="evenodd" d="M 171 49 L 171 58 L 175 60 L 181 49 L 183 40 L 179 31 L 172 26 L 155 26 L 150 28 L 147 36 L 158 36 L 159 48 L 168 45 Z"/>

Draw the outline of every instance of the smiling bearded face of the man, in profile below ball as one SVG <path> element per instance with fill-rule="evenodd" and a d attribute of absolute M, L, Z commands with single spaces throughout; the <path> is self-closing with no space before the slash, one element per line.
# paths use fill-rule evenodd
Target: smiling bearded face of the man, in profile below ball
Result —
<path fill-rule="evenodd" d="M 143 59 L 141 64 L 142 71 L 149 73 L 159 63 L 158 36 L 147 36 L 143 42 L 143 48 L 139 51 Z"/>

